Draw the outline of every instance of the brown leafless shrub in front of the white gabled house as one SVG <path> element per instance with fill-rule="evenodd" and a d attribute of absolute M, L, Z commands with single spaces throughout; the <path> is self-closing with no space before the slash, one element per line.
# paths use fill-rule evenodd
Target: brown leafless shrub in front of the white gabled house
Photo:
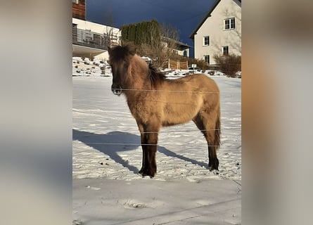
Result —
<path fill-rule="evenodd" d="M 213 56 L 215 62 L 219 65 L 219 69 L 229 77 L 237 77 L 236 73 L 241 71 L 241 56 L 234 54 L 229 56 Z"/>

